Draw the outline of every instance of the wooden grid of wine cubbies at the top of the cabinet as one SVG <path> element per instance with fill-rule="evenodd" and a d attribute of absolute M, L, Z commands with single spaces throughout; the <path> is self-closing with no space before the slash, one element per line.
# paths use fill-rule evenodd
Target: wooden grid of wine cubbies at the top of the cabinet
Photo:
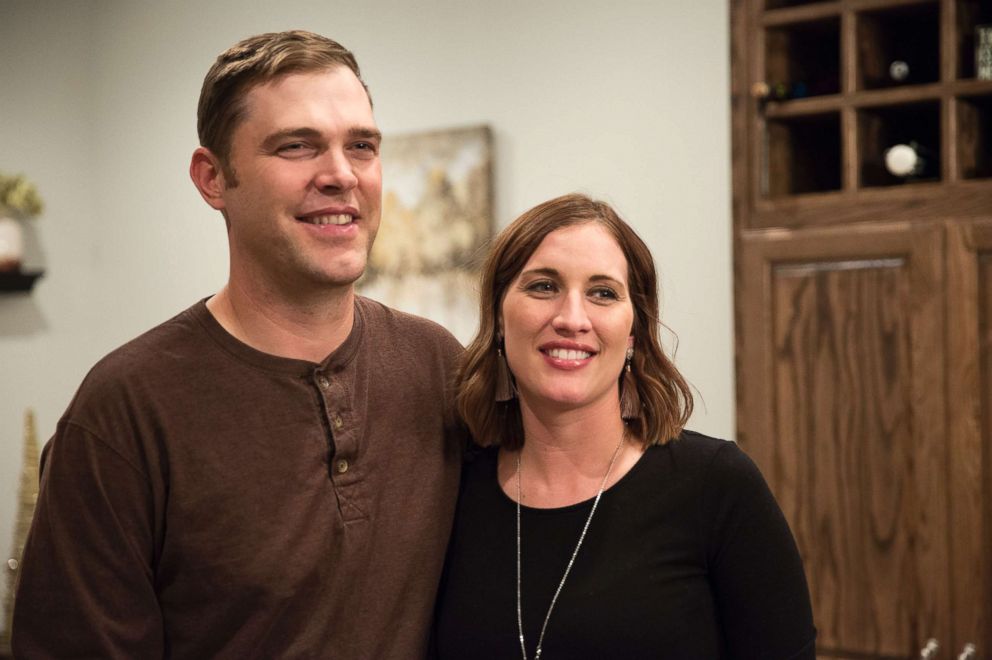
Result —
<path fill-rule="evenodd" d="M 992 1 L 756 4 L 748 82 L 766 96 L 749 111 L 752 203 L 856 204 L 879 189 L 940 197 L 965 182 L 992 190 L 992 80 L 975 79 L 973 62 L 974 31 L 992 22 Z M 892 73 L 907 69 L 906 78 Z M 889 173 L 885 154 L 899 144 L 921 145 L 927 171 Z"/>

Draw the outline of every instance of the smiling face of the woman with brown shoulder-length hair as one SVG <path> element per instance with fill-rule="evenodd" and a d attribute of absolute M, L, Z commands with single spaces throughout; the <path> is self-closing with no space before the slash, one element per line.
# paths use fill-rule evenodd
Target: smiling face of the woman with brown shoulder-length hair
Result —
<path fill-rule="evenodd" d="M 595 222 L 548 234 L 501 306 L 506 359 L 524 406 L 619 409 L 633 322 L 627 260 L 613 236 Z"/>

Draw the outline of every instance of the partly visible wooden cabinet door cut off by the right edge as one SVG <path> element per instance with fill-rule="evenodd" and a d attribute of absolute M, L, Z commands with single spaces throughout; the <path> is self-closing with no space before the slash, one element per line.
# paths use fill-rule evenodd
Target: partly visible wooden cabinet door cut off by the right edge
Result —
<path fill-rule="evenodd" d="M 948 230 L 954 649 L 992 657 L 992 220 Z"/>

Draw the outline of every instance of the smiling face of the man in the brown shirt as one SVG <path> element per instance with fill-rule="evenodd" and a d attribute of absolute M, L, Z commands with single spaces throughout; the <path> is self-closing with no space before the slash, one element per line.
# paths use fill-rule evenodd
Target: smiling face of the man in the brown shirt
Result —
<path fill-rule="evenodd" d="M 215 207 L 229 223 L 232 283 L 304 294 L 350 286 L 379 228 L 380 134 L 346 67 L 255 87 L 231 140 L 237 183 Z"/>

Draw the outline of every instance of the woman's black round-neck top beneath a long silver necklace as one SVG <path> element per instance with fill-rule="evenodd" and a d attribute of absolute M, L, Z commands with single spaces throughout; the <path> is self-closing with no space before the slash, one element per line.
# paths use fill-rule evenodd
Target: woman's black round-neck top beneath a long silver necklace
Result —
<path fill-rule="evenodd" d="M 435 630 L 439 658 L 520 658 L 516 505 L 496 450 L 466 465 Z M 527 655 L 592 500 L 523 507 Z M 649 448 L 603 497 L 544 638 L 542 659 L 813 658 L 795 541 L 754 463 L 685 432 Z"/>

